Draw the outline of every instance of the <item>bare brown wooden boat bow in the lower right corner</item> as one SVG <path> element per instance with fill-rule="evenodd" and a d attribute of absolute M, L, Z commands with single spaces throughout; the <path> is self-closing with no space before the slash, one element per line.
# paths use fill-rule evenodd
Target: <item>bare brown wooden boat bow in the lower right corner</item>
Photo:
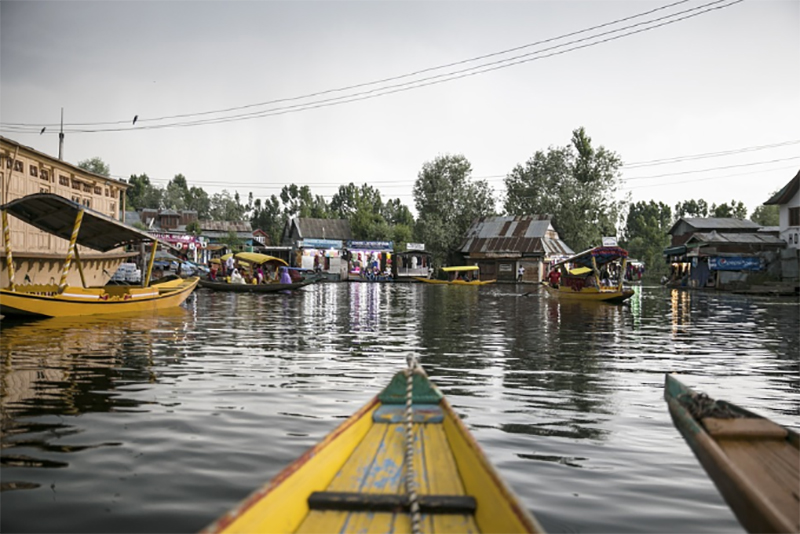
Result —
<path fill-rule="evenodd" d="M 798 434 L 667 375 L 675 426 L 749 532 L 800 532 Z"/>

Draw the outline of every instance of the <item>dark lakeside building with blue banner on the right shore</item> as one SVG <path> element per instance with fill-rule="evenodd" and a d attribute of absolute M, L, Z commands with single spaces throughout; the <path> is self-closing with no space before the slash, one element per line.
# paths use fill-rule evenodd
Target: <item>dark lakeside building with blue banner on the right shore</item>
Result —
<path fill-rule="evenodd" d="M 669 234 L 671 245 L 664 256 L 671 285 L 725 289 L 747 283 L 753 273 L 780 276 L 780 251 L 786 242 L 777 228 L 744 219 L 683 217 Z"/>

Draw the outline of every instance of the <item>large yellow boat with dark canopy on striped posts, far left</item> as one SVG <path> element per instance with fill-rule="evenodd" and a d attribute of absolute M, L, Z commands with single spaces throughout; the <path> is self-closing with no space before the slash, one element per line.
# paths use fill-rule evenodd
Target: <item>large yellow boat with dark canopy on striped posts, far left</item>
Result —
<path fill-rule="evenodd" d="M 0 210 L 9 273 L 8 287 L 0 289 L 0 314 L 4 316 L 69 317 L 161 310 L 180 306 L 197 286 L 197 277 L 151 285 L 150 276 L 155 258 L 153 253 L 141 285 L 87 287 L 77 245 L 107 252 L 124 245 L 152 242 L 155 251 L 159 241 L 149 234 L 51 193 L 37 193 L 12 200 L 0 206 Z M 8 214 L 69 241 L 66 262 L 58 284 L 16 283 Z M 163 245 L 169 246 L 166 243 Z M 83 281 L 80 287 L 67 284 L 73 258 Z"/>

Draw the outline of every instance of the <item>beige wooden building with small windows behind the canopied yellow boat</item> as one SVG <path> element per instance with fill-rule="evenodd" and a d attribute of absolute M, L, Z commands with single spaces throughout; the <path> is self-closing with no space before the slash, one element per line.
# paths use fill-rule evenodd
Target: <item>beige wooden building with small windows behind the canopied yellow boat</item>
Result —
<path fill-rule="evenodd" d="M 116 220 L 125 213 L 128 184 L 95 174 L 57 157 L 39 152 L 0 136 L 0 204 L 34 193 L 52 193 L 68 198 Z M 58 281 L 64 267 L 69 241 L 8 217 L 15 278 L 33 283 Z M 0 285 L 6 287 L 8 265 L 5 243 L 0 251 Z M 110 252 L 78 247 L 86 283 L 105 285 L 120 264 L 136 255 L 119 248 Z M 80 273 L 71 269 L 70 285 L 81 285 Z"/>

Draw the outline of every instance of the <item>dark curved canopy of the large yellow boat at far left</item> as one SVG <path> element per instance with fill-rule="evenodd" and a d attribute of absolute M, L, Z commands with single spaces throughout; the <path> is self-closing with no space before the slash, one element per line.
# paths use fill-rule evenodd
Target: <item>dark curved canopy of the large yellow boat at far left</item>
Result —
<path fill-rule="evenodd" d="M 146 232 L 53 193 L 35 193 L 18 198 L 0 206 L 0 210 L 67 241 L 72 238 L 75 218 L 80 211 L 83 211 L 80 231 L 75 242 L 100 252 L 145 241 L 158 241 Z M 159 242 L 167 248 L 172 248 L 169 243 Z"/>

